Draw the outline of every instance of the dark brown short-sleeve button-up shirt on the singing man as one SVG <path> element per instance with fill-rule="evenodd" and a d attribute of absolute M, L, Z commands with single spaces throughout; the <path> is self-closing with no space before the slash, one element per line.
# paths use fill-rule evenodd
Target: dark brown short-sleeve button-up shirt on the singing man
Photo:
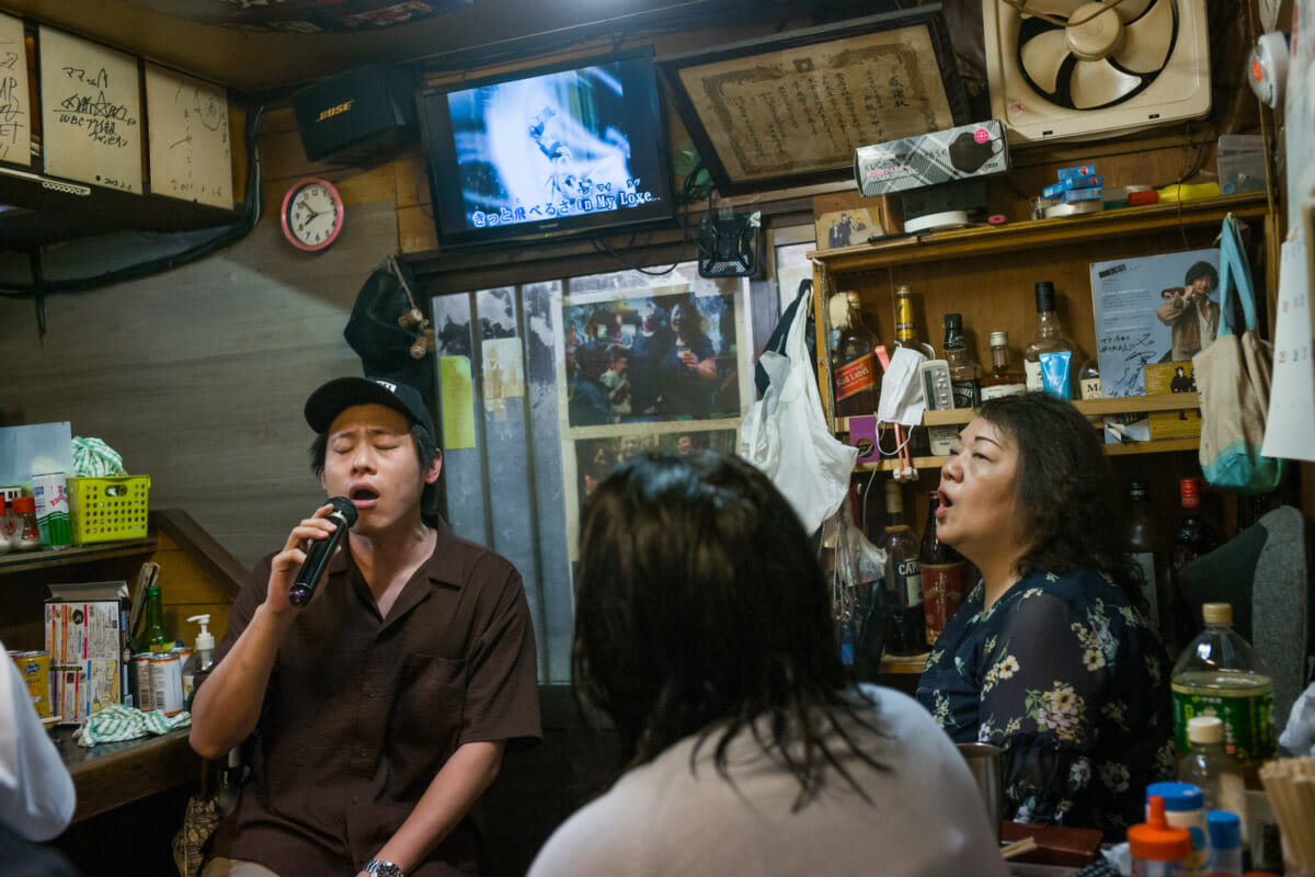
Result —
<path fill-rule="evenodd" d="M 271 560 L 238 594 L 216 665 L 264 602 Z M 540 735 L 534 630 L 504 557 L 441 521 L 387 618 L 348 551 L 323 592 L 279 647 L 254 777 L 213 849 L 283 877 L 355 873 L 459 746 Z M 472 874 L 477 845 L 467 817 L 408 877 Z"/>

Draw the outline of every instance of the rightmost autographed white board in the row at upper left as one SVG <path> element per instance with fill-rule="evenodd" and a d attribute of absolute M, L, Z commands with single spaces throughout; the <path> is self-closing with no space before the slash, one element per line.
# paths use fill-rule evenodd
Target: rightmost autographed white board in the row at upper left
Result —
<path fill-rule="evenodd" d="M 229 101 L 218 85 L 146 64 L 151 192 L 233 209 Z"/>

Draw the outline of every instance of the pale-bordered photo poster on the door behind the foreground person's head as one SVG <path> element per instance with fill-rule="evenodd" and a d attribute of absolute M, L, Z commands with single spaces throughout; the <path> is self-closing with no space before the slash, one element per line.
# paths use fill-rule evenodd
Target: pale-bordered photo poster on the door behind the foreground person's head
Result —
<path fill-rule="evenodd" d="M 738 280 L 562 298 L 558 392 L 572 552 L 585 500 L 619 463 L 646 451 L 735 451 L 753 400 L 744 301 Z"/>

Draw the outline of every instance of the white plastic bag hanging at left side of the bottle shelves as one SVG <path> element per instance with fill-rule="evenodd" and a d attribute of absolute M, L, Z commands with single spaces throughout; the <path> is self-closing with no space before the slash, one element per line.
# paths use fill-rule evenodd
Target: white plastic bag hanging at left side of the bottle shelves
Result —
<path fill-rule="evenodd" d="M 771 384 L 740 423 L 736 454 L 789 500 L 809 533 L 846 498 L 859 450 L 838 440 L 822 415 L 817 372 L 803 337 L 813 308 L 805 292 L 785 337 L 785 356 L 764 352 Z"/>

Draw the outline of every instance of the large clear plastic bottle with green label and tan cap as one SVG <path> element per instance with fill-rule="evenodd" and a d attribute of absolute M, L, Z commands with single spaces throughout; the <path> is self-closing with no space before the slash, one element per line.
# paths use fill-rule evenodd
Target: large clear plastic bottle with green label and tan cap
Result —
<path fill-rule="evenodd" d="M 1255 770 L 1274 755 L 1274 681 L 1265 659 L 1232 628 L 1231 605 L 1201 609 L 1206 628 L 1182 651 L 1170 680 L 1174 742 L 1189 752 L 1187 722 L 1215 715 L 1224 749 Z"/>

